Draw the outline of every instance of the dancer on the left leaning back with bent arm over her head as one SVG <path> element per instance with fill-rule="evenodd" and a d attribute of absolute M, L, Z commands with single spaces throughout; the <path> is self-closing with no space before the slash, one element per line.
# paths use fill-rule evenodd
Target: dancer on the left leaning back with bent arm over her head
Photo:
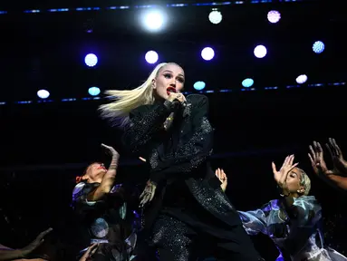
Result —
<path fill-rule="evenodd" d="M 120 155 L 112 147 L 102 146 L 112 155 L 111 165 L 105 169 L 101 163 L 92 163 L 82 177 L 77 177 L 72 207 L 87 232 L 87 244 L 98 244 L 92 251 L 84 249 L 90 252 L 88 260 L 128 261 L 135 257 L 138 228 L 129 206 L 131 192 L 114 185 Z"/>

